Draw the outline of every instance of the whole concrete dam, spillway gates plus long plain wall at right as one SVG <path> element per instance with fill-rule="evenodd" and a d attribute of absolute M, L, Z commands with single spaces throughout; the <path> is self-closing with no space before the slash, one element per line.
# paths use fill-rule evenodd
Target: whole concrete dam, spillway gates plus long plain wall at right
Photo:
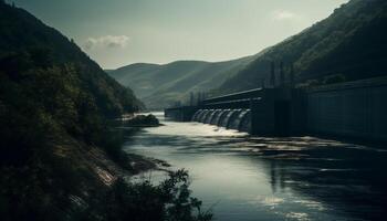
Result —
<path fill-rule="evenodd" d="M 327 136 L 386 144 L 387 78 L 311 88 L 255 88 L 165 109 L 178 122 L 200 122 L 255 136 Z"/>

